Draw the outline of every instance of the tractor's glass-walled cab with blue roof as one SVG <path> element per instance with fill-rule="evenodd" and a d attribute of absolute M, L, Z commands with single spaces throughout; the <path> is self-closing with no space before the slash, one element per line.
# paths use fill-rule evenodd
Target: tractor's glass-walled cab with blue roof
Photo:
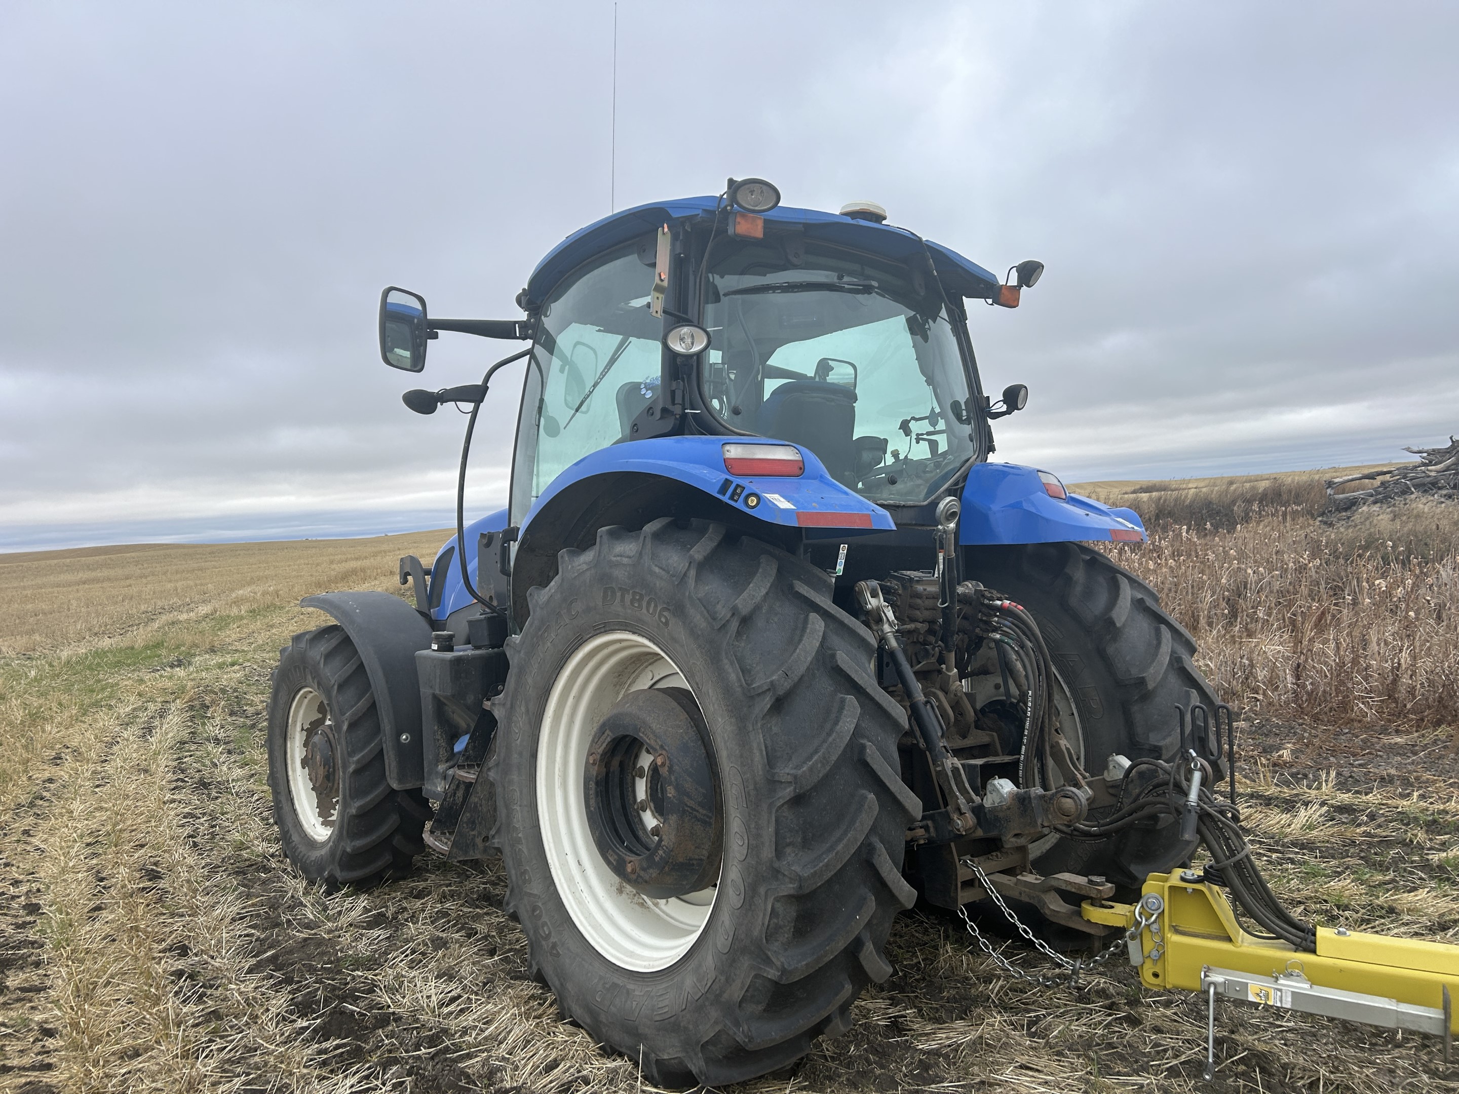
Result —
<path fill-rule="evenodd" d="M 785 441 L 890 505 L 925 503 L 986 459 L 964 299 L 1013 306 L 1020 286 L 870 210 L 689 198 L 626 210 L 549 254 L 518 298 L 538 352 L 512 522 L 579 458 L 657 436 Z"/>

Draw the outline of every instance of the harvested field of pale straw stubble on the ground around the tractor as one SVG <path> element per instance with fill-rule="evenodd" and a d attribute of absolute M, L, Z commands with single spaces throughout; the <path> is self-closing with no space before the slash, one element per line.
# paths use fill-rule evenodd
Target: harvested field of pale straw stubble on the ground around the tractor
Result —
<path fill-rule="evenodd" d="M 531 982 L 495 862 L 427 858 L 409 882 L 325 896 L 282 858 L 268 671 L 321 621 L 295 601 L 394 588 L 395 556 L 441 538 L 0 556 L 0 1090 L 641 1088 Z M 1307 725 L 1242 726 L 1262 861 L 1325 922 L 1455 936 L 1446 740 L 1366 732 L 1332 751 Z M 1201 1002 L 1128 969 L 1080 996 L 1027 986 L 924 915 L 890 957 L 851 1033 L 744 1090 L 1205 1088 Z M 1221 1039 L 1217 1090 L 1459 1090 L 1427 1039 L 1234 1005 Z"/>

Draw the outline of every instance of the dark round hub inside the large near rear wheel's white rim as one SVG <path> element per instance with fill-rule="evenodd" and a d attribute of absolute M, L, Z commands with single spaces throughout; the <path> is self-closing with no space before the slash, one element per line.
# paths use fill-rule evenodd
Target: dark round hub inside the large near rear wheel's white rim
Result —
<path fill-rule="evenodd" d="M 630 691 L 608 710 L 588 745 L 584 798 L 598 855 L 643 896 L 697 893 L 719 877 L 718 779 L 686 688 Z"/>

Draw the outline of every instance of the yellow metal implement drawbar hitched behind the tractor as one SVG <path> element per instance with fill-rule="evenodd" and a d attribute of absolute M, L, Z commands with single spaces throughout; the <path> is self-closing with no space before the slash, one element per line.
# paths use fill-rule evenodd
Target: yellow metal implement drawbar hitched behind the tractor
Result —
<path fill-rule="evenodd" d="M 1431 1033 L 1444 1039 L 1449 1060 L 1456 945 L 1317 928 L 1317 951 L 1304 953 L 1243 931 L 1226 894 L 1191 869 L 1151 874 L 1137 904 L 1085 900 L 1081 912 L 1090 922 L 1125 929 L 1129 961 L 1147 988 L 1207 995 L 1207 1078 L 1214 1069 L 1217 998 Z"/>

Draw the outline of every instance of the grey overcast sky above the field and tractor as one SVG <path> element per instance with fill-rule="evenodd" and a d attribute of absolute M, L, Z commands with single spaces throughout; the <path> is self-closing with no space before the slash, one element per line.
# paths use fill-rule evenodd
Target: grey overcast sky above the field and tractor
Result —
<path fill-rule="evenodd" d="M 1002 271 L 998 457 L 1069 481 L 1459 432 L 1452 3 L 0 4 L 0 550 L 439 527 L 381 286 L 516 318 L 562 236 L 762 175 Z M 515 349 L 432 344 L 429 387 Z M 505 499 L 518 381 L 468 508 Z"/>

